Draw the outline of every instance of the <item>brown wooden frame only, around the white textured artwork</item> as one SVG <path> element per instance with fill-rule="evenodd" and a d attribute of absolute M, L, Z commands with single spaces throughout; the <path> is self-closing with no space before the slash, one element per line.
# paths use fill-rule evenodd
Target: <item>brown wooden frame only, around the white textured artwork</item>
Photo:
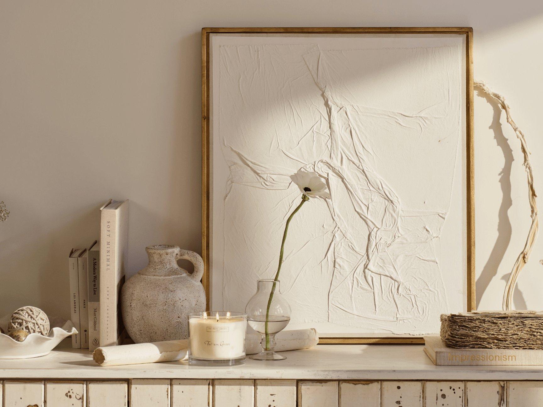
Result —
<path fill-rule="evenodd" d="M 473 30 L 469 27 L 311 27 L 311 28 L 203 28 L 202 29 L 202 257 L 205 273 L 202 280 L 207 294 L 207 308 L 210 307 L 210 35 L 213 34 L 405 34 L 405 35 L 440 35 L 451 34 L 463 36 L 465 39 L 465 232 L 466 256 L 466 309 L 475 309 L 475 218 L 473 191 Z M 277 247 L 279 249 L 279 246 Z M 333 337 L 321 338 L 323 344 L 390 344 L 390 343 L 424 343 L 420 336 L 416 337 Z"/>

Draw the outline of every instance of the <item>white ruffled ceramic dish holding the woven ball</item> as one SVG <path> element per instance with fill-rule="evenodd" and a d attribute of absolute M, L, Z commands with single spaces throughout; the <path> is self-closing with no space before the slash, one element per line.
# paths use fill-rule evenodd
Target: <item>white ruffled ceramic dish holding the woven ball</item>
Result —
<path fill-rule="evenodd" d="M 77 334 L 72 321 L 66 321 L 62 327 L 54 327 L 49 335 L 30 334 L 22 342 L 17 342 L 8 335 L 0 334 L 0 359 L 37 358 L 48 354 L 60 341 Z"/>

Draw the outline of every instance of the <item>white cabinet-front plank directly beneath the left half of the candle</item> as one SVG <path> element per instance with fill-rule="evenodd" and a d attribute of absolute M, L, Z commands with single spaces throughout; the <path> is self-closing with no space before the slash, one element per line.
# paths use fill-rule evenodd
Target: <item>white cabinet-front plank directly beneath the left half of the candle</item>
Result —
<path fill-rule="evenodd" d="M 211 380 L 172 380 L 172 407 L 211 407 L 211 400 Z"/>

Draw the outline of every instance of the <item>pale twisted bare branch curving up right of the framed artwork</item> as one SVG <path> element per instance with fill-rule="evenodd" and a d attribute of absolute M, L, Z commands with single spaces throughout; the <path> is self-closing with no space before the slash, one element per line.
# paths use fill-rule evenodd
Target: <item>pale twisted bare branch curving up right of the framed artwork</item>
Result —
<path fill-rule="evenodd" d="M 511 271 L 511 274 L 509 275 L 509 279 L 507 280 L 506 289 L 503 293 L 503 302 L 502 302 L 502 308 L 503 310 L 510 310 L 513 303 L 513 292 L 515 291 L 516 287 L 516 281 L 519 278 L 519 274 L 522 271 L 522 268 L 528 263 L 528 259 L 530 257 L 530 253 L 532 252 L 532 249 L 535 244 L 535 239 L 538 236 L 538 230 L 539 230 L 539 219 L 538 219 L 538 207 L 536 205 L 536 197 L 538 196 L 535 193 L 534 189 L 534 179 L 532 175 L 532 164 L 530 163 L 530 150 L 528 150 L 528 145 L 526 144 L 526 138 L 524 137 L 524 133 L 522 130 L 519 129 L 519 126 L 516 125 L 516 123 L 511 118 L 511 112 L 510 107 L 506 103 L 505 99 L 501 94 L 498 94 L 496 92 L 491 91 L 488 86 L 484 82 L 474 82 L 475 86 L 478 86 L 484 93 L 488 94 L 492 99 L 497 101 L 500 108 L 506 113 L 507 123 L 513 128 L 515 131 L 516 137 L 520 140 L 520 147 L 522 150 L 522 154 L 524 155 L 524 169 L 526 170 L 526 175 L 528 179 L 528 200 L 530 202 L 530 210 L 531 210 L 531 217 L 532 217 L 532 224 L 530 225 L 530 230 L 528 231 L 528 237 L 526 238 L 526 243 L 524 245 L 524 248 L 520 252 L 519 257 L 516 258 L 516 262 L 513 266 L 513 270 Z M 543 262 L 542 262 L 543 263 Z"/>

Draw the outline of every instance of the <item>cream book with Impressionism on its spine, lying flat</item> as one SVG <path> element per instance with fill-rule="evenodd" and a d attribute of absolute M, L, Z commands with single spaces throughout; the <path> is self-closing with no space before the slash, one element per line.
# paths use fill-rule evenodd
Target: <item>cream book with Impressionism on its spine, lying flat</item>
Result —
<path fill-rule="evenodd" d="M 539 366 L 543 351 L 539 349 L 450 348 L 439 336 L 425 336 L 424 352 L 437 366 Z"/>

